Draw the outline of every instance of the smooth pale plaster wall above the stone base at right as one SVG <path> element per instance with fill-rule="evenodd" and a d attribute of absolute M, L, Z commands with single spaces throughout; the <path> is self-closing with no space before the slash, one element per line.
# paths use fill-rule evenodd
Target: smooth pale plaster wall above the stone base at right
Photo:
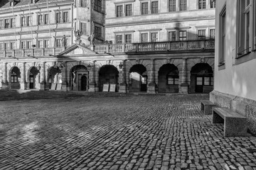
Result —
<path fill-rule="evenodd" d="M 256 60 L 250 60 L 242 64 L 233 65 L 236 47 L 236 2 L 237 0 L 217 1 L 216 4 L 216 32 L 215 32 L 215 72 L 214 72 L 214 90 L 225 94 L 241 96 L 256 100 Z M 219 56 L 219 15 L 226 3 L 226 52 L 225 69 L 218 70 Z M 256 52 L 250 55 L 256 57 Z"/>

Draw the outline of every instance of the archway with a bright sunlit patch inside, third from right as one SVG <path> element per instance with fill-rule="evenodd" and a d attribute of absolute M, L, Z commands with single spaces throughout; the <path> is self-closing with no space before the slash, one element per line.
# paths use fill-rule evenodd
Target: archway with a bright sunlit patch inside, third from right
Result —
<path fill-rule="evenodd" d="M 146 67 L 142 64 L 132 66 L 129 71 L 129 92 L 146 92 Z"/>

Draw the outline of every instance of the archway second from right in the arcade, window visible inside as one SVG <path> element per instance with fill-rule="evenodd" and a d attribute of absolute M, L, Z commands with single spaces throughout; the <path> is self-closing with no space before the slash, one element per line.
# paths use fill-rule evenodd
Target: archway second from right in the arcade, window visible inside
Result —
<path fill-rule="evenodd" d="M 159 93 L 178 93 L 178 68 L 164 64 L 159 69 Z"/>

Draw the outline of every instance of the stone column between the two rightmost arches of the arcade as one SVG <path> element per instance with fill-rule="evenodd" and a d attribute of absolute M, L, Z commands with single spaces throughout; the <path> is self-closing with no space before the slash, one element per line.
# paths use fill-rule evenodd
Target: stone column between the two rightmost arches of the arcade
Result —
<path fill-rule="evenodd" d="M 188 94 L 188 75 L 187 75 L 187 58 L 183 58 L 182 70 L 181 70 L 181 88 L 179 92 L 181 94 Z"/>

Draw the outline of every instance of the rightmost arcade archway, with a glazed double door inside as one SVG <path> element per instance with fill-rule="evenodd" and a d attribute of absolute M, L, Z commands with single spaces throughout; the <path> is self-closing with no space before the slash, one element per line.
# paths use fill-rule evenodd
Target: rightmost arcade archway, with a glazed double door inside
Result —
<path fill-rule="evenodd" d="M 213 69 L 207 63 L 198 63 L 191 69 L 191 93 L 213 91 Z"/>

